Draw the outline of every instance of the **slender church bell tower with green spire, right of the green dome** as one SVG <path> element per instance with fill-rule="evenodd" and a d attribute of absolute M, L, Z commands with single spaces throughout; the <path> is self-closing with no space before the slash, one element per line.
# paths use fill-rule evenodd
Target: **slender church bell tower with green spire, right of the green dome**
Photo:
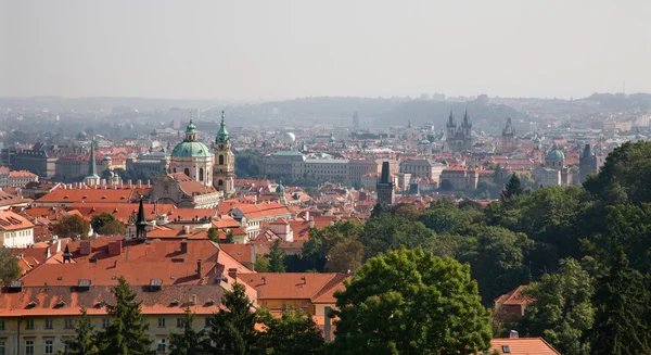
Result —
<path fill-rule="evenodd" d="M 231 151 L 230 137 L 224 123 L 224 111 L 221 111 L 221 126 L 215 139 L 213 166 L 213 186 L 218 191 L 224 191 L 225 198 L 232 195 L 235 192 L 235 156 Z"/>

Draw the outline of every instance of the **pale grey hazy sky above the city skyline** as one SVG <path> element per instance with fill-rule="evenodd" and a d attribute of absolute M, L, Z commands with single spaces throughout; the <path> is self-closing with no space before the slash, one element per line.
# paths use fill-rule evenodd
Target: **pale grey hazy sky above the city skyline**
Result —
<path fill-rule="evenodd" d="M 0 0 L 0 96 L 651 92 L 651 0 Z"/>

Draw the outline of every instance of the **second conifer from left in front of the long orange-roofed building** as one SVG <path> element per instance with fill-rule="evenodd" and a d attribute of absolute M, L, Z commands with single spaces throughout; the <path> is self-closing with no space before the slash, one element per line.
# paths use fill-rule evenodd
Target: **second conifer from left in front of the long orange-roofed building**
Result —
<path fill-rule="evenodd" d="M 100 355 L 153 355 L 149 324 L 142 321 L 142 301 L 136 300 L 133 291 L 124 277 L 111 290 L 115 305 L 107 305 L 111 325 L 98 334 Z"/>

